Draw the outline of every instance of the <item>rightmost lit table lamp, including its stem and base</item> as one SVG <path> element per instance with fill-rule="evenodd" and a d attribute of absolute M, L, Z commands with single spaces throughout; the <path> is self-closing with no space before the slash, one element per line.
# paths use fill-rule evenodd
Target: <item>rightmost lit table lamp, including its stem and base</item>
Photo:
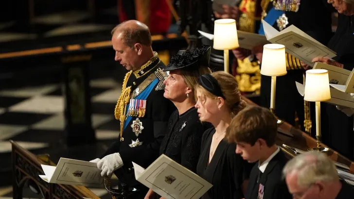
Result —
<path fill-rule="evenodd" d="M 306 71 L 305 93 L 303 99 L 316 102 L 316 139 L 317 147 L 308 149 L 309 151 L 326 152 L 329 149 L 321 147 L 321 101 L 331 99 L 329 89 L 328 70 L 311 69 Z"/>

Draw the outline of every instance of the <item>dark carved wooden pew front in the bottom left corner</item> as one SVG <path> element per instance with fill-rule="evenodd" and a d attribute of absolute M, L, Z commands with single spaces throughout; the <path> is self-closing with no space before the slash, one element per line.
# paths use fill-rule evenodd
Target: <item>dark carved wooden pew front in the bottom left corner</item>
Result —
<path fill-rule="evenodd" d="M 33 181 L 38 186 L 41 195 L 45 199 L 100 199 L 85 186 L 72 186 L 53 184 L 43 181 L 38 175 L 44 175 L 43 165 L 52 165 L 48 157 L 37 157 L 33 153 L 20 147 L 16 142 L 12 144 L 12 169 L 13 169 L 13 198 L 22 199 L 23 186 L 28 181 Z"/>

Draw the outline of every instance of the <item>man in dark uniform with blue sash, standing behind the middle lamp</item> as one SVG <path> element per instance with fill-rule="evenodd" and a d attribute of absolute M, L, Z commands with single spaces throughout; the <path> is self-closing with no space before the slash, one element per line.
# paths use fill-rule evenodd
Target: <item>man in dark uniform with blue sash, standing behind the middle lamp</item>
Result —
<path fill-rule="evenodd" d="M 293 24 L 323 45 L 326 45 L 332 36 L 331 12 L 322 0 L 262 0 L 261 6 L 262 18 L 278 31 Z M 258 33 L 264 34 L 262 24 Z M 259 62 L 262 62 L 262 53 L 263 46 L 255 47 L 253 50 L 234 50 L 236 58 L 244 59 L 253 54 L 254 59 L 258 59 Z M 277 116 L 292 125 L 295 125 L 295 115 L 297 115 L 302 130 L 305 130 L 304 101 L 295 84 L 295 81 L 303 82 L 304 70 L 300 60 L 288 53 L 286 53 L 286 68 L 287 74 L 277 77 L 275 112 Z M 262 75 L 261 105 L 265 107 L 270 105 L 270 84 L 271 78 Z M 309 110 L 308 106 L 306 108 Z M 306 119 L 305 122 L 311 122 L 309 114 Z M 311 131 L 309 129 L 311 124 L 306 126 L 308 127 L 306 131 Z"/>

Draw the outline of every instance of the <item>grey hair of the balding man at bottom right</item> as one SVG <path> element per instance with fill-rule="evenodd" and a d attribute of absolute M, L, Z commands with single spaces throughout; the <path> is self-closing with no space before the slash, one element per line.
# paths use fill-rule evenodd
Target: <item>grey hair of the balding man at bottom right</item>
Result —
<path fill-rule="evenodd" d="M 298 185 L 302 187 L 339 179 L 334 162 L 319 152 L 306 152 L 292 158 L 283 168 L 283 178 L 294 171 L 298 174 Z"/>

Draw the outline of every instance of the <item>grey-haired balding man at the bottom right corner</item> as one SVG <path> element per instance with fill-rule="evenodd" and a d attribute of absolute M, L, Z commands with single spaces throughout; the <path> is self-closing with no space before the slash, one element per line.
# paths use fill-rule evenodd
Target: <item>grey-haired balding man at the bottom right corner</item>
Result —
<path fill-rule="evenodd" d="M 325 153 L 295 156 L 283 169 L 294 199 L 353 199 L 354 188 L 339 181 L 336 166 Z"/>

